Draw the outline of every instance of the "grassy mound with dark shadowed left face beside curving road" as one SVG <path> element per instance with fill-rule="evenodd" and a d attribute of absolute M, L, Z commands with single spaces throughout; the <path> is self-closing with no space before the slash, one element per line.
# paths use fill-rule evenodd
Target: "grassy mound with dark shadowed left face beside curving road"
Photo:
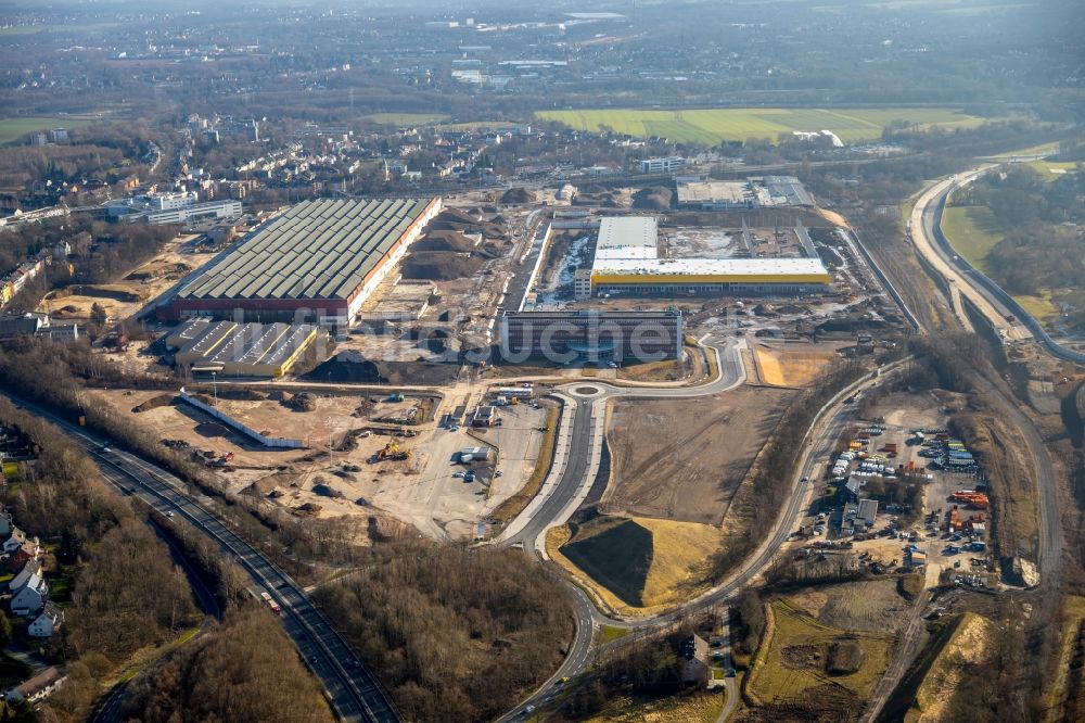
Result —
<path fill-rule="evenodd" d="M 698 573 L 719 542 L 707 524 L 602 516 L 570 525 L 558 551 L 610 607 L 641 611 L 700 589 Z"/>

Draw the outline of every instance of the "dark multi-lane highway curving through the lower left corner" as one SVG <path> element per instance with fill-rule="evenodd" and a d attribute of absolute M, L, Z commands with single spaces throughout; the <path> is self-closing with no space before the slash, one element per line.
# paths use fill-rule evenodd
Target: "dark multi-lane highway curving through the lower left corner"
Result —
<path fill-rule="evenodd" d="M 125 494 L 139 497 L 166 516 L 180 516 L 216 542 L 283 611 L 282 623 L 302 658 L 324 687 L 335 713 L 345 721 L 401 721 L 376 677 L 355 657 L 324 614 L 285 572 L 227 528 L 166 470 L 120 449 L 44 409 L 14 398 L 34 414 L 53 422 L 91 456 L 102 477 Z"/>

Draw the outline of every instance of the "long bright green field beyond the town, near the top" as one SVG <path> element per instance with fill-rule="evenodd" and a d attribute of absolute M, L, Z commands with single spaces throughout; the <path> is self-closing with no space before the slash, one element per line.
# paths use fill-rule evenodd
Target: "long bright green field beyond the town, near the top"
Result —
<path fill-rule="evenodd" d="M 769 138 L 793 130 L 831 130 L 844 141 L 879 138 L 893 120 L 905 120 L 921 128 L 972 127 L 983 118 L 952 109 L 706 109 L 693 111 L 655 111 L 642 109 L 598 109 L 585 111 L 542 111 L 546 120 L 558 120 L 580 130 L 602 127 L 630 136 L 663 136 L 676 142 L 715 145 L 723 140 Z"/>

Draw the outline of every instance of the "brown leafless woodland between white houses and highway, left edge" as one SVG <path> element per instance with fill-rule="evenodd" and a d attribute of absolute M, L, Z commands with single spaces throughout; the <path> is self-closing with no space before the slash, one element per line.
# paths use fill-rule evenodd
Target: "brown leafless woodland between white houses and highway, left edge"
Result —
<path fill-rule="evenodd" d="M 199 619 L 184 573 L 166 546 L 100 481 L 90 459 L 50 424 L 0 398 L 0 420 L 39 449 L 9 484 L 17 525 L 46 545 L 47 581 L 71 585 L 65 621 L 44 648 L 68 682 L 46 706 L 51 720 L 85 720 L 102 682 L 138 650 L 168 642 Z M 48 570 L 52 569 L 50 575 Z"/>

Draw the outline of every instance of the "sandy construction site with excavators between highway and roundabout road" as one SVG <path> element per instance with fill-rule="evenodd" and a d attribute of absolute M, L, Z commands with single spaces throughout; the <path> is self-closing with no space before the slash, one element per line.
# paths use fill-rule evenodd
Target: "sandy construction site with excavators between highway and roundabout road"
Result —
<path fill-rule="evenodd" d="M 212 385 L 207 385 L 210 388 Z M 202 389 L 194 398 L 296 448 L 266 446 L 161 392 L 95 392 L 234 493 L 295 515 L 383 513 L 439 538 L 471 538 L 535 471 L 547 414 L 507 405 L 486 427 L 448 424 L 451 398 L 387 390 Z M 455 399 L 459 402 L 459 399 Z"/>

